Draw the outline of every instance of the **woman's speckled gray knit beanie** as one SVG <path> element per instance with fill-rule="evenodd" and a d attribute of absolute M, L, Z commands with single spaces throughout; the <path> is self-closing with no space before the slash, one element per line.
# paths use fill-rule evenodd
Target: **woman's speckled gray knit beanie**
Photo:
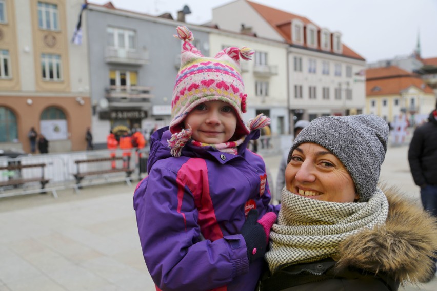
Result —
<path fill-rule="evenodd" d="M 319 144 L 344 164 L 360 195 L 359 202 L 366 202 L 376 190 L 387 152 L 388 132 L 387 122 L 376 115 L 319 117 L 297 135 L 287 163 L 299 144 Z"/>

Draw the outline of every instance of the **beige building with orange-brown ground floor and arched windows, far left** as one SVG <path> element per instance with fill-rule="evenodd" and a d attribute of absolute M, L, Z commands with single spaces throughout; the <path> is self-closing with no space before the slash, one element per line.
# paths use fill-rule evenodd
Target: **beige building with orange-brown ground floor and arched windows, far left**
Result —
<path fill-rule="evenodd" d="M 31 127 L 49 152 L 86 149 L 87 40 L 71 41 L 83 3 L 0 0 L 0 149 L 29 153 Z"/>

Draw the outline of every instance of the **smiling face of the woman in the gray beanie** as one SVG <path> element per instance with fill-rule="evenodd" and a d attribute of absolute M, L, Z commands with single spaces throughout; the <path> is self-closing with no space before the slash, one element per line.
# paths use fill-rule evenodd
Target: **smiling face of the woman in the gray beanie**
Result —
<path fill-rule="evenodd" d="M 319 144 L 302 143 L 285 169 L 287 190 L 306 198 L 353 202 L 359 198 L 343 163 Z"/>

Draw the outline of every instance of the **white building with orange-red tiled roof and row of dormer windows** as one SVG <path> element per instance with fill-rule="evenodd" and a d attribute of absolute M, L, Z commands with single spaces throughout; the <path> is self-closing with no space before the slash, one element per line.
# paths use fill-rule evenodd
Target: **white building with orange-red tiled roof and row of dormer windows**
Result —
<path fill-rule="evenodd" d="M 364 113 L 365 59 L 342 43 L 340 32 L 247 0 L 214 8 L 212 23 L 223 30 L 250 29 L 257 37 L 288 45 L 283 102 L 289 111 L 288 128 L 299 119 Z"/>

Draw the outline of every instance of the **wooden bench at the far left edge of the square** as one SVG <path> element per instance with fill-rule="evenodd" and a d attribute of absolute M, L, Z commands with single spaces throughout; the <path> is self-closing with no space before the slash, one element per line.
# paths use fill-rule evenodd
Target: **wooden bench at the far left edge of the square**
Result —
<path fill-rule="evenodd" d="M 45 188 L 46 184 L 50 181 L 49 179 L 44 178 L 44 167 L 46 167 L 45 163 L 38 163 L 38 164 L 9 164 L 7 166 L 0 167 L 0 171 L 9 171 L 12 172 L 11 174 L 8 174 L 9 179 L 6 181 L 0 181 L 0 188 L 7 187 L 7 186 L 21 186 L 25 183 L 29 182 L 39 182 L 41 184 L 41 190 L 40 193 L 43 192 L 43 189 Z M 31 177 L 31 178 L 22 178 L 21 177 L 21 170 L 23 169 L 29 169 L 29 168 L 41 168 L 41 176 L 38 177 Z"/>

